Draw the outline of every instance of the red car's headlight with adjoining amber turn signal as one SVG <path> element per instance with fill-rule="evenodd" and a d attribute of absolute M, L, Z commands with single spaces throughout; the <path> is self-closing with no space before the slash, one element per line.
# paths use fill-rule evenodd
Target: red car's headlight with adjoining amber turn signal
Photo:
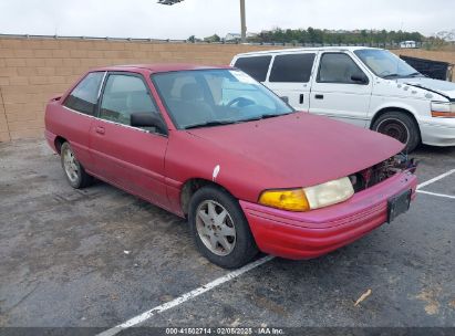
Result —
<path fill-rule="evenodd" d="M 288 211 L 309 211 L 340 203 L 354 195 L 354 188 L 348 177 L 322 185 L 285 190 L 266 190 L 259 197 L 259 203 Z"/>

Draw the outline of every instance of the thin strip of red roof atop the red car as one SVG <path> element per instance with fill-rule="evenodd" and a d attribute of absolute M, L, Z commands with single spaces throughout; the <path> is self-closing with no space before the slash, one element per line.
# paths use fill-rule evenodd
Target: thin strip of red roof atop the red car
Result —
<path fill-rule="evenodd" d="M 170 71 L 188 71 L 188 70 L 210 70 L 210 69 L 231 69 L 226 65 L 197 65 L 186 63 L 155 63 L 155 64 L 123 64 L 92 69 L 94 71 L 137 71 L 146 70 L 152 73 L 170 72 Z"/>

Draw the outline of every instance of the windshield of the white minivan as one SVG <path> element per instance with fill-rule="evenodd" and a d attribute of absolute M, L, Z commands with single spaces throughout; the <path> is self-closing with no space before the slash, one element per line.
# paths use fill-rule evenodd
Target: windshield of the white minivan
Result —
<path fill-rule="evenodd" d="M 418 71 L 386 50 L 361 49 L 354 51 L 358 57 L 374 74 L 383 78 L 423 76 Z"/>

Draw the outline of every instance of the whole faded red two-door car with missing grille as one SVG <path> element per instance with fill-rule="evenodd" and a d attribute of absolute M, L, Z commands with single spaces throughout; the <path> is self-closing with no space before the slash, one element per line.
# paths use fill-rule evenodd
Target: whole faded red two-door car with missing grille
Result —
<path fill-rule="evenodd" d="M 232 67 L 125 65 L 85 74 L 45 112 L 70 185 L 93 177 L 187 218 L 211 262 L 310 259 L 406 211 L 415 165 L 397 140 L 293 111 Z"/>

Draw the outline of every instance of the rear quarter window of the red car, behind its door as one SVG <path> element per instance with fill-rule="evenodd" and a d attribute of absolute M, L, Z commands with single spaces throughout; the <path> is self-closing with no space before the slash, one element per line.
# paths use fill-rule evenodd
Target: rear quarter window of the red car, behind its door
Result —
<path fill-rule="evenodd" d="M 63 106 L 87 115 L 95 115 L 96 102 L 104 72 L 92 72 L 77 84 L 66 97 Z"/>

